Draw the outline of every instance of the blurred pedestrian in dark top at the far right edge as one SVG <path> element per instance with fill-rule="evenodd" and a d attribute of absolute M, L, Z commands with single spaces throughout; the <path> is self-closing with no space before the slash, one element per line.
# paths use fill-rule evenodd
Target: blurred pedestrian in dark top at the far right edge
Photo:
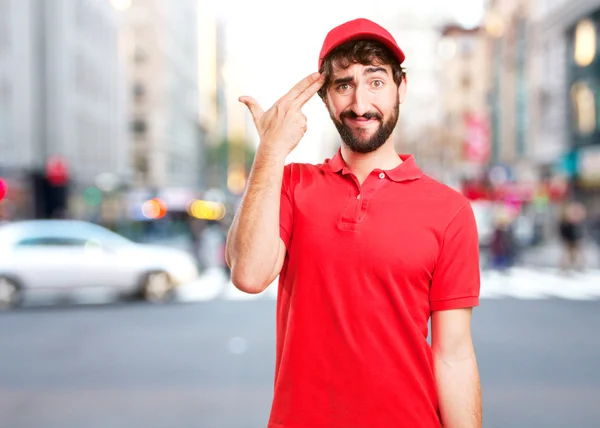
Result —
<path fill-rule="evenodd" d="M 582 251 L 583 227 L 586 212 L 579 202 L 569 202 L 563 209 L 559 233 L 563 245 L 560 266 L 563 271 L 583 269 L 585 259 Z"/>

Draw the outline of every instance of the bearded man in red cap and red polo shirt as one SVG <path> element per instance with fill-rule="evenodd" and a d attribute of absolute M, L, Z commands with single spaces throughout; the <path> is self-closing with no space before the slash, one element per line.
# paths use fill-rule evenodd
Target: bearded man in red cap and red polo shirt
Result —
<path fill-rule="evenodd" d="M 475 220 L 462 195 L 394 150 L 403 61 L 385 29 L 358 19 L 329 32 L 319 73 L 271 109 L 240 98 L 260 145 L 227 262 L 248 293 L 279 275 L 269 428 L 481 427 Z M 341 148 L 285 165 L 317 92 Z"/>

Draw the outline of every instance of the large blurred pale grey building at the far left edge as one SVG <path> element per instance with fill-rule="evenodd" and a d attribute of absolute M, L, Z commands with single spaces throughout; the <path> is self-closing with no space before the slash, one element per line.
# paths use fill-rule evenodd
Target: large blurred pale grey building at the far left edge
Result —
<path fill-rule="evenodd" d="M 75 197 L 127 176 L 118 29 L 105 0 L 0 1 L 0 174 L 31 196 L 21 215 L 69 208 L 49 200 L 53 157 Z"/>

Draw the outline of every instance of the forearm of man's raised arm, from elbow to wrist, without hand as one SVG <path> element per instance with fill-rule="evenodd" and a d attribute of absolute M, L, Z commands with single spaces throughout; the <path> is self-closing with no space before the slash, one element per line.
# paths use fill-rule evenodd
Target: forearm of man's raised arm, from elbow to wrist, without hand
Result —
<path fill-rule="evenodd" d="M 279 254 L 279 208 L 285 157 L 257 151 L 248 186 L 229 230 L 227 263 L 243 291 L 268 285 Z"/>

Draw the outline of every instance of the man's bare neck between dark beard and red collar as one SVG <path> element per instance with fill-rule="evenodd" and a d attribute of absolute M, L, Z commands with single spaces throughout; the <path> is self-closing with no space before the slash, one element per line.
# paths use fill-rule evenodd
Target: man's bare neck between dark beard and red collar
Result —
<path fill-rule="evenodd" d="M 362 182 L 374 169 L 394 169 L 402 160 L 394 149 L 392 139 L 387 140 L 383 146 L 370 153 L 356 153 L 348 149 L 345 144 L 341 147 L 342 158 L 346 166 Z"/>

